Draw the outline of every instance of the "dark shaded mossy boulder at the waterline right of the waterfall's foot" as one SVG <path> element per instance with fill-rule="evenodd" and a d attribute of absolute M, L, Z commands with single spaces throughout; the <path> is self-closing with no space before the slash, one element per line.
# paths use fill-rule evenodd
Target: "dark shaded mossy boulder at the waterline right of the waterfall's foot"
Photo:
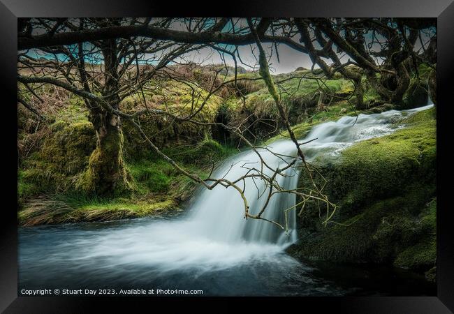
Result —
<path fill-rule="evenodd" d="M 325 230 L 305 228 L 297 255 L 335 262 L 393 262 L 424 235 L 420 220 L 411 212 L 425 205 L 420 200 L 409 202 L 412 196 L 381 200 Z"/>

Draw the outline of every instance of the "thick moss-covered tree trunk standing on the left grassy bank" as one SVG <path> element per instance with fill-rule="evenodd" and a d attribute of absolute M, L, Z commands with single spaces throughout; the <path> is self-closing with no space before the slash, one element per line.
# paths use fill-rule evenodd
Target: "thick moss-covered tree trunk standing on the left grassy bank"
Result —
<path fill-rule="evenodd" d="M 118 109 L 118 60 L 115 39 L 103 42 L 105 66 L 103 98 Z M 82 177 L 83 189 L 96 194 L 119 194 L 129 190 L 123 161 L 123 133 L 120 117 L 100 106 L 92 107 L 89 120 L 96 133 L 96 149 L 89 158 L 87 171 Z"/>

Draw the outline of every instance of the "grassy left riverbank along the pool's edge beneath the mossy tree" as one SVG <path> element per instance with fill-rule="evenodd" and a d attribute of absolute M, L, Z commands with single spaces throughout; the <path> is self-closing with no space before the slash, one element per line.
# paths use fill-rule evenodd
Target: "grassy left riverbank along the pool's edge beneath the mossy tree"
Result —
<path fill-rule="evenodd" d="M 196 147 L 180 147 L 178 152 L 166 150 L 166 154 L 179 161 L 186 170 L 207 177 L 212 163 L 218 163 L 237 151 L 222 147 L 214 140 L 204 140 Z M 198 156 L 197 162 L 191 162 L 189 156 Z M 100 197 L 81 191 L 61 191 L 24 197 L 24 208 L 18 212 L 20 225 L 109 221 L 182 211 L 182 204 L 198 188 L 196 182 L 159 158 L 133 160 L 126 167 L 131 176 L 129 194 Z M 22 196 L 33 194 L 34 188 L 38 188 L 22 184 L 24 177 L 35 175 L 30 172 L 19 173 L 19 193 Z"/>

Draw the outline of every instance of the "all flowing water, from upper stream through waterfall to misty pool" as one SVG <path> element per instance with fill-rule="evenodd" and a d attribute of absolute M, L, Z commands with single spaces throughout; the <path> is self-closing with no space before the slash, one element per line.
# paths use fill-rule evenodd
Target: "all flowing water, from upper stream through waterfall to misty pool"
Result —
<path fill-rule="evenodd" d="M 321 154 L 336 155 L 355 142 L 394 132 L 393 123 L 402 115 L 429 107 L 319 124 L 302 140 L 313 140 L 302 149 L 309 160 Z M 269 148 L 281 154 L 261 151 L 270 167 L 282 167 L 296 154 L 289 140 L 279 140 Z M 254 151 L 244 151 L 226 160 L 212 177 L 242 177 L 250 168 L 260 167 L 259 161 Z M 277 177 L 279 185 L 295 188 L 298 170 L 289 168 L 285 174 Z M 257 178 L 247 178 L 244 184 L 249 210 L 256 214 L 265 203 L 266 195 L 259 196 L 266 186 Z M 263 217 L 284 224 L 284 209 L 293 204 L 295 195 L 274 195 Z M 243 217 L 237 190 L 217 186 L 200 190 L 180 216 L 21 228 L 19 287 L 187 289 L 203 290 L 204 295 L 352 293 L 286 255 L 285 248 L 298 238 L 295 211 L 289 211 L 288 232 L 264 220 Z"/>

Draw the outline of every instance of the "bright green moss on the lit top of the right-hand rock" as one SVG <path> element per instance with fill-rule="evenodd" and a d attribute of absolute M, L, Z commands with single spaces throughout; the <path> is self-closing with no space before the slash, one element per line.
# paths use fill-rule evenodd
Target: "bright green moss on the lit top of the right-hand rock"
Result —
<path fill-rule="evenodd" d="M 434 180 L 437 147 L 432 113 L 418 112 L 401 124 L 408 126 L 355 144 L 336 160 L 318 160 L 326 163 L 323 167 L 335 200 L 361 207 L 374 197 L 405 193 L 420 179 Z M 344 195 L 349 197 L 342 200 Z"/>

